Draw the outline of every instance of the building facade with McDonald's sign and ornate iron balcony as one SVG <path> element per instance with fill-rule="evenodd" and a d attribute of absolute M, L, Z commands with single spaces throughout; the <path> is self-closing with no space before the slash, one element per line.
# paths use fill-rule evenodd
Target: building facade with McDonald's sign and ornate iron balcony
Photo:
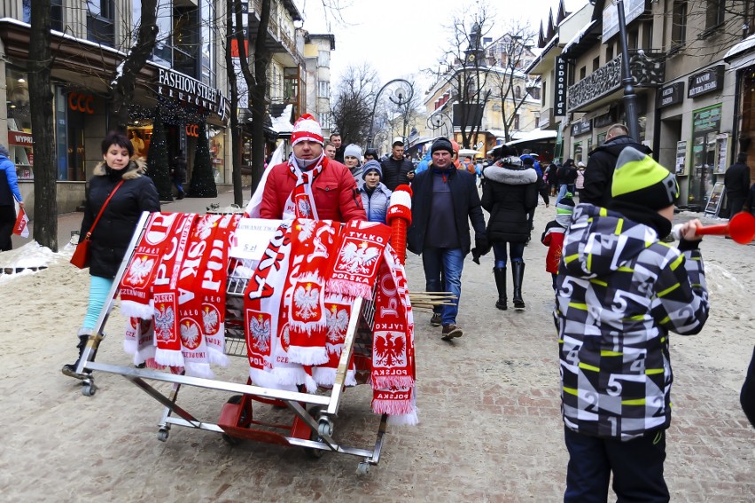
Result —
<path fill-rule="evenodd" d="M 676 172 L 680 206 L 703 209 L 736 153 L 753 153 L 751 99 L 745 90 L 752 60 L 747 48 L 731 63 L 725 57 L 755 30 L 755 5 L 732 0 L 623 4 L 637 139 Z M 562 156 L 587 161 L 611 124 L 626 122 L 617 8 L 596 1 L 550 25 L 551 33 L 541 39 L 541 58 L 527 71 L 543 79 L 542 114 L 562 133 Z"/>

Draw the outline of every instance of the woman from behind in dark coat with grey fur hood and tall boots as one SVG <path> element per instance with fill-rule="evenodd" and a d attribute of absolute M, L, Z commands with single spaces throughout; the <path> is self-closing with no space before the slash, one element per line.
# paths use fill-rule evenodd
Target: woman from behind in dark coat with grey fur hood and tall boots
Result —
<path fill-rule="evenodd" d="M 522 161 L 510 157 L 488 166 L 483 172 L 482 207 L 490 213 L 487 240 L 493 245 L 493 274 L 498 288 L 495 307 L 507 310 L 506 262 L 510 258 L 514 280 L 514 307 L 524 309 L 522 279 L 525 276 L 525 243 L 530 237 L 527 214 L 537 206 L 537 171 L 525 169 Z M 508 245 L 508 255 L 507 255 Z"/>

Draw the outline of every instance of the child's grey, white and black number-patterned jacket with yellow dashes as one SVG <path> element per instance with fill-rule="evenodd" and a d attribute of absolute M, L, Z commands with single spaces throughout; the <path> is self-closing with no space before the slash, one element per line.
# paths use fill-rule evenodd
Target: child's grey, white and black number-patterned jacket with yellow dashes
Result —
<path fill-rule="evenodd" d="M 669 332 L 697 334 L 708 318 L 702 255 L 580 204 L 564 238 L 554 318 L 567 428 L 623 440 L 668 428 Z"/>

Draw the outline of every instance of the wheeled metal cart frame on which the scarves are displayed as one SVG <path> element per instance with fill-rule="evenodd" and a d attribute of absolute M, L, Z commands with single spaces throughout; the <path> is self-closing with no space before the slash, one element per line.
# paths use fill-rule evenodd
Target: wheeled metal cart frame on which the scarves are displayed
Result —
<path fill-rule="evenodd" d="M 349 385 L 348 379 L 351 380 L 351 385 L 354 385 L 354 379 L 357 384 L 364 384 L 370 380 L 369 372 L 361 373 L 357 369 L 354 375 L 354 359 L 372 358 L 373 339 L 375 339 L 375 334 L 373 334 L 376 312 L 375 300 L 378 295 L 378 287 L 373 289 L 371 299 L 354 297 L 343 347 L 335 371 L 335 381 L 331 387 L 321 387 L 317 389 L 316 393 L 307 393 L 302 386 L 294 387 L 295 390 L 289 390 L 254 385 L 248 378 L 246 383 L 242 384 L 240 382 L 191 376 L 183 372 L 177 373 L 175 370 L 174 372 L 164 372 L 149 368 L 149 362 L 147 368 L 141 368 L 94 361 L 97 347 L 104 337 L 105 324 L 113 309 L 115 299 L 121 291 L 121 280 L 124 279 L 124 275 L 128 274 L 129 264 L 135 258 L 136 250 L 142 242 L 143 236 L 149 234 L 149 223 L 150 215 L 144 213 L 137 224 L 136 232 L 129 244 L 123 263 L 121 263 L 121 268 L 113 281 L 113 289 L 108 297 L 109 302 L 105 304 L 105 308 L 97 320 L 93 335 L 90 336 L 90 340 L 82 353 L 77 368 L 77 373 L 82 375 L 82 394 L 92 396 L 97 390 L 92 371 L 119 374 L 164 406 L 157 433 L 160 441 L 167 441 L 173 426 L 181 426 L 218 433 L 229 444 L 237 444 L 242 440 L 254 440 L 269 444 L 299 446 L 304 449 L 307 455 L 314 458 L 320 458 L 325 452 L 356 456 L 361 458 L 356 470 L 358 475 L 365 475 L 369 472 L 370 467 L 376 466 L 383 447 L 383 439 L 389 419 L 388 413 L 376 415 L 375 442 L 367 447 L 347 445 L 343 439 L 335 439 L 333 431 L 335 420 L 339 416 L 339 406 L 346 387 Z M 253 272 L 252 264 L 230 258 L 225 289 L 226 313 L 223 329 L 223 345 L 225 355 L 228 357 L 248 357 L 244 295 Z M 172 389 L 169 392 L 164 392 L 154 385 L 160 382 L 171 383 Z M 226 392 L 232 394 L 232 396 L 222 404 L 222 410 L 217 420 L 200 419 L 200 414 L 190 413 L 186 405 L 183 405 L 183 402 L 179 400 L 179 391 L 185 386 Z M 187 402 L 190 402 L 190 400 L 187 399 Z M 259 404 L 272 405 L 273 408 L 261 407 L 261 414 L 257 414 L 257 405 Z M 284 409 L 287 409 L 287 412 Z M 276 414 L 272 414 L 274 420 L 269 420 L 270 410 L 276 411 Z M 266 413 L 268 414 L 266 415 Z M 290 420 L 287 422 L 280 420 L 282 413 L 286 413 Z M 258 418 L 258 415 L 261 415 L 261 418 Z M 359 435 L 359 438 L 363 439 L 364 436 Z"/>

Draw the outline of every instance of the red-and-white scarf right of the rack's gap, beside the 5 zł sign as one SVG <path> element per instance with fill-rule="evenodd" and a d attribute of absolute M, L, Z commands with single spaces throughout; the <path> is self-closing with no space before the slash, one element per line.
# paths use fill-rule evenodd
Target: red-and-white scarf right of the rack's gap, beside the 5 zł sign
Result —
<path fill-rule="evenodd" d="M 265 248 L 257 269 L 244 292 L 244 325 L 249 377 L 254 384 L 271 389 L 288 389 L 281 385 L 272 369 L 273 345 L 280 337 L 278 313 L 288 275 L 291 233 L 289 224 L 280 224 Z"/>

